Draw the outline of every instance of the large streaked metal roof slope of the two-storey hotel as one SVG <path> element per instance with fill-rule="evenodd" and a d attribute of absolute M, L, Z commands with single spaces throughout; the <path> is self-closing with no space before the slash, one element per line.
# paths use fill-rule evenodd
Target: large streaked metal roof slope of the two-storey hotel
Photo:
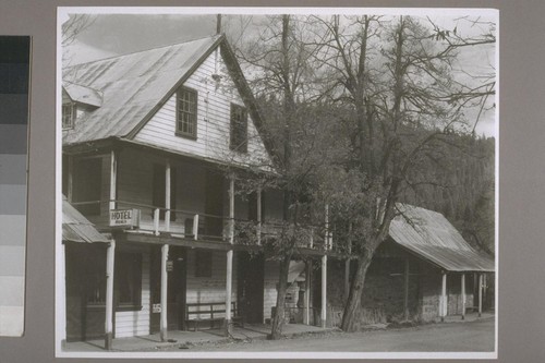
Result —
<path fill-rule="evenodd" d="M 64 83 L 100 92 L 102 106 L 78 117 L 63 144 L 123 137 L 174 90 L 221 36 L 140 51 L 66 68 Z"/>

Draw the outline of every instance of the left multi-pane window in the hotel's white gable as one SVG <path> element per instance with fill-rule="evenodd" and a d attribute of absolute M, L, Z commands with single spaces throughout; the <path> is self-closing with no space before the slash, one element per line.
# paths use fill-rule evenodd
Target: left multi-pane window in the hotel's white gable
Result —
<path fill-rule="evenodd" d="M 197 92 L 194 89 L 178 89 L 175 134 L 197 138 Z"/>

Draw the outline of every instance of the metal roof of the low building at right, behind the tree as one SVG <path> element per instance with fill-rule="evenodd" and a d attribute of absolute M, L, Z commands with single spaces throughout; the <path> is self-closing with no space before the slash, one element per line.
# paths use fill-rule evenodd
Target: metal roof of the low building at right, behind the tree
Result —
<path fill-rule="evenodd" d="M 440 213 L 402 204 L 398 209 L 402 215 L 390 223 L 396 243 L 448 271 L 495 270 L 492 256 L 473 249 Z"/>

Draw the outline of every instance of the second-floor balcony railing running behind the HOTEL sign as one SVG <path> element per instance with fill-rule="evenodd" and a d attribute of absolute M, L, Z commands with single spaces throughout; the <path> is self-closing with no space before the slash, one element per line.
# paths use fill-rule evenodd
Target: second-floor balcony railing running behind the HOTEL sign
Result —
<path fill-rule="evenodd" d="M 295 239 L 298 247 L 331 250 L 332 233 L 327 232 L 324 225 L 301 225 L 294 227 L 283 221 L 257 221 L 229 216 L 217 216 L 184 209 L 168 209 L 126 201 L 89 201 L 74 202 L 90 222 L 99 229 L 116 228 L 110 226 L 110 210 L 135 210 L 137 220 L 131 228 L 144 233 L 159 235 L 162 232 L 195 241 L 226 241 L 231 238 L 238 244 L 263 244 L 267 239 L 280 237 Z M 113 208 L 114 207 L 114 208 Z M 232 223 L 231 223 L 232 221 Z"/>

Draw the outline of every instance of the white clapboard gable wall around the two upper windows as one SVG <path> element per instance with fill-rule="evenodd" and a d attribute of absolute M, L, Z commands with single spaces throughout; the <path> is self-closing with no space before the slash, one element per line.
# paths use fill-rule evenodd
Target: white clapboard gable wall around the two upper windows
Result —
<path fill-rule="evenodd" d="M 216 57 L 218 57 L 217 65 Z M 213 74 L 221 75 L 218 87 L 211 77 Z M 241 155 L 229 150 L 231 102 L 241 106 L 244 104 L 230 81 L 219 53 L 211 53 L 185 81 L 184 86 L 197 90 L 198 94 L 197 140 L 175 135 L 175 95 L 173 95 L 136 134 L 135 141 L 220 161 L 255 164 L 261 162 L 258 160 L 268 160 L 263 141 L 250 116 L 247 154 Z"/>

